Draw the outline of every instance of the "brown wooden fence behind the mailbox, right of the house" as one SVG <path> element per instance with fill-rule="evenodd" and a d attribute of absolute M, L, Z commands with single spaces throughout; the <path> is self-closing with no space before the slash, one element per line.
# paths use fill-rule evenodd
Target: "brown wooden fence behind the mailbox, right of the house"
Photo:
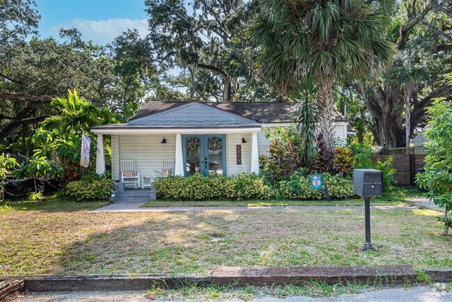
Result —
<path fill-rule="evenodd" d="M 406 148 L 403 148 L 406 150 Z M 392 157 L 392 166 L 396 168 L 394 178 L 397 186 L 416 186 L 414 183 L 416 170 L 423 168 L 426 154 L 394 154 L 394 155 L 372 155 L 373 161 L 385 161 Z"/>

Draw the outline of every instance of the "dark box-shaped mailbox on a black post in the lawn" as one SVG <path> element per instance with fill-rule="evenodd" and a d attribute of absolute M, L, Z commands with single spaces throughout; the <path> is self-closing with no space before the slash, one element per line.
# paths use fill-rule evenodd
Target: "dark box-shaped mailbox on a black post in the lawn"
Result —
<path fill-rule="evenodd" d="M 371 241 L 371 197 L 381 196 L 383 172 L 374 169 L 355 169 L 353 171 L 353 193 L 364 197 L 366 216 L 366 239 L 362 251 L 373 250 Z"/>

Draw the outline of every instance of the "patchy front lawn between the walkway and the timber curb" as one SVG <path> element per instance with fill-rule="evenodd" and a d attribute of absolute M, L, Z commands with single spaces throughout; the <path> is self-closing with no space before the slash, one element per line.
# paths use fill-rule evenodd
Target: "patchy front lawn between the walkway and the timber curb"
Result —
<path fill-rule="evenodd" d="M 89 213 L 102 204 L 11 202 L 0 214 L 0 275 L 207 273 L 216 265 L 452 267 L 426 209 L 372 210 L 378 252 L 360 253 L 362 209 Z"/>

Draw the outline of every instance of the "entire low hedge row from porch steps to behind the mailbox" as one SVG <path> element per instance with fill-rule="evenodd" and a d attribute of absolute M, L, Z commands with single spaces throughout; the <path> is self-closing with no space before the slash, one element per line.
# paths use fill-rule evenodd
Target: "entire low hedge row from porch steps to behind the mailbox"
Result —
<path fill-rule="evenodd" d="M 323 174 L 323 184 L 334 199 L 352 198 L 353 181 L 348 177 Z M 239 174 L 232 177 L 211 174 L 204 177 L 195 174 L 188 177 L 161 177 L 154 182 L 157 198 L 161 200 L 263 200 L 285 198 L 298 200 L 324 200 L 323 190 L 311 189 L 309 175 L 293 173 L 289 180 L 267 185 L 255 174 Z"/>

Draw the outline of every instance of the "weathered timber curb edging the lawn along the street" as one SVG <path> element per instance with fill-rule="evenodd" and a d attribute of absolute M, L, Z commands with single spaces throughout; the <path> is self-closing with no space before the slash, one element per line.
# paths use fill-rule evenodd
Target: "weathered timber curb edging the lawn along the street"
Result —
<path fill-rule="evenodd" d="M 424 270 L 435 282 L 452 282 L 452 268 Z M 208 286 L 234 284 L 297 285 L 309 281 L 324 283 L 400 284 L 417 281 L 410 264 L 364 267 L 215 267 L 209 276 L 196 274 L 91 274 L 0 276 L 0 301 L 13 299 L 19 292 L 115 292 L 171 289 L 182 285 Z"/>

